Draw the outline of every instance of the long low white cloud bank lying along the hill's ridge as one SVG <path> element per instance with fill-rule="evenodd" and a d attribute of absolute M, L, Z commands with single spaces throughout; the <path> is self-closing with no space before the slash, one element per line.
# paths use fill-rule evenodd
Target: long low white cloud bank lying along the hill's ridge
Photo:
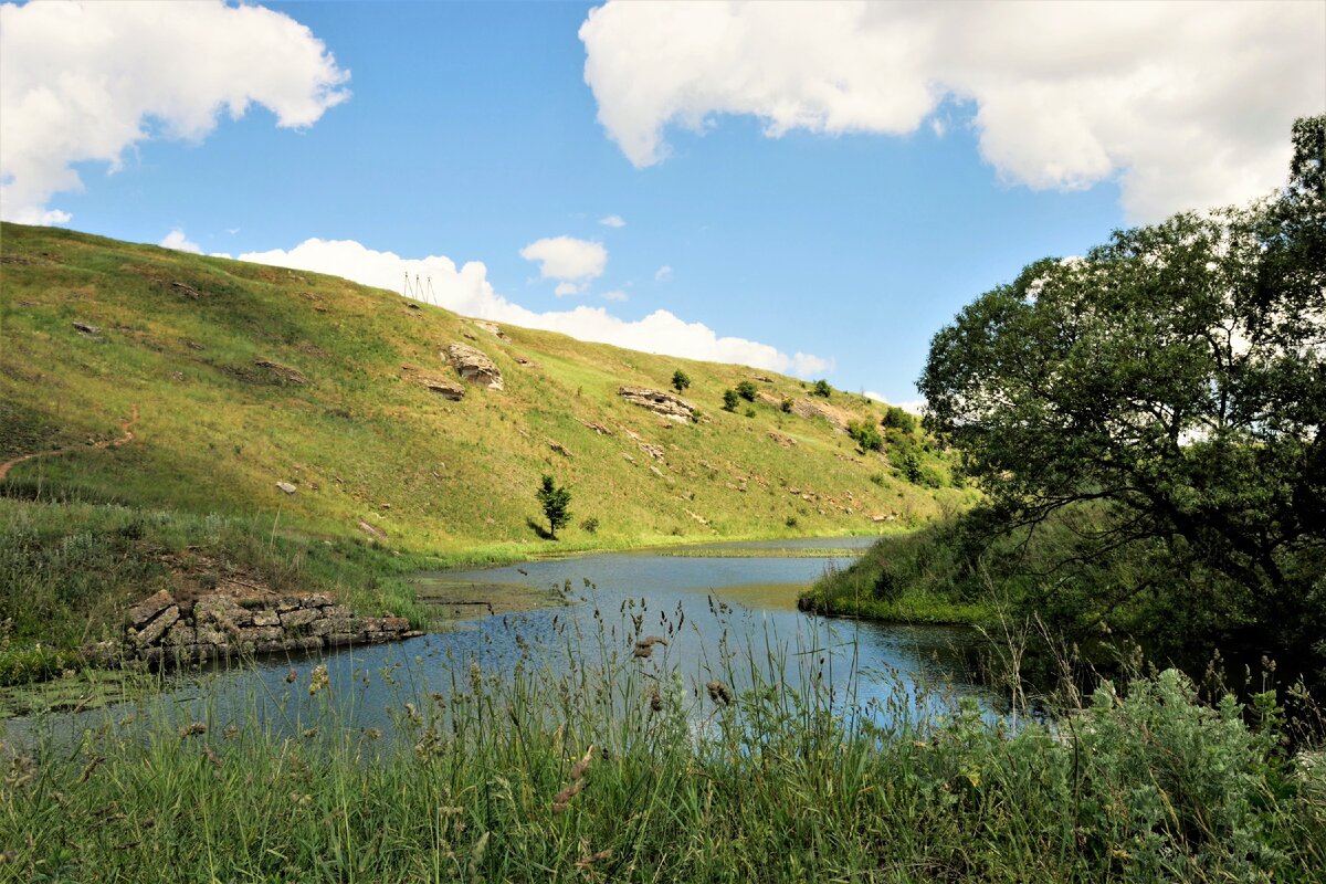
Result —
<path fill-rule="evenodd" d="M 479 261 L 457 268 L 447 257 L 403 258 L 377 252 L 354 240 L 305 240 L 293 249 L 249 252 L 241 261 L 342 276 L 363 285 L 399 292 L 406 274 L 432 281 L 431 304 L 463 315 L 508 322 L 526 329 L 560 331 L 581 341 L 611 343 L 631 350 L 662 353 L 688 359 L 732 362 L 797 374 L 819 375 L 833 370 L 833 360 L 806 353 L 788 355 L 777 347 L 745 338 L 719 335 L 701 322 L 686 322 L 667 310 L 643 319 L 626 321 L 602 307 L 536 313 L 497 294 L 488 282 L 488 269 Z M 420 298 L 423 300 L 423 298 Z"/>

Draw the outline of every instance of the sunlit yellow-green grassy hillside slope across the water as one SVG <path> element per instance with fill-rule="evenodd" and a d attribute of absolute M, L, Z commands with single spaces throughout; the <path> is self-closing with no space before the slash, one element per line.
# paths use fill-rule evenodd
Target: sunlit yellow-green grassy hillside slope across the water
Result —
<path fill-rule="evenodd" d="M 963 497 L 894 478 L 884 456 L 862 455 L 814 415 L 878 421 L 882 406 L 812 398 L 792 378 L 516 327 L 499 335 L 335 277 L 53 228 L 5 224 L 0 260 L 0 463 L 66 449 L 15 464 L 0 482 L 11 497 L 41 486 L 264 514 L 271 530 L 309 537 L 362 537 L 363 522 L 396 549 L 513 555 L 878 531 Z M 464 384 L 451 402 L 420 383 L 463 383 L 451 343 L 489 357 L 504 390 Z M 618 395 L 622 384 L 666 390 L 678 367 L 693 380 L 697 423 Z M 721 411 L 723 391 L 744 379 L 761 396 Z M 135 414 L 131 441 L 95 444 L 119 440 Z M 542 473 L 573 494 L 560 543 L 530 524 Z"/>

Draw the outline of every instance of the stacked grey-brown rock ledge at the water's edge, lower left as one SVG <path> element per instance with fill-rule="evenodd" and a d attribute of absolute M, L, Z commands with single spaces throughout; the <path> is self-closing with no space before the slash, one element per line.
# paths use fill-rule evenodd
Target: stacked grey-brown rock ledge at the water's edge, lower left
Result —
<path fill-rule="evenodd" d="M 404 618 L 355 616 L 320 594 L 271 599 L 212 594 L 190 606 L 162 590 L 130 608 L 119 647 L 111 643 L 98 653 L 106 661 L 160 665 L 381 644 L 419 635 Z"/>

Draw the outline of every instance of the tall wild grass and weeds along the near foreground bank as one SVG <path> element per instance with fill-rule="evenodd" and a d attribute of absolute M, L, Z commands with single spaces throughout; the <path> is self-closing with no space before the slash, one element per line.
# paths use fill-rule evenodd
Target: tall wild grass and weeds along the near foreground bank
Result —
<path fill-rule="evenodd" d="M 1284 750 L 1269 696 L 1207 705 L 1167 671 L 1059 697 L 1054 730 L 1009 728 L 935 696 L 915 714 L 902 689 L 845 712 L 813 672 L 762 680 L 785 661 L 753 655 L 692 685 L 659 651 L 589 641 L 569 676 L 530 657 L 430 688 L 398 677 L 383 729 L 349 726 L 339 692 L 390 672 L 329 684 L 314 669 L 240 712 L 145 700 L 73 745 L 38 730 L 8 746 L 0 880 L 1057 884 L 1326 868 L 1326 763 Z"/>

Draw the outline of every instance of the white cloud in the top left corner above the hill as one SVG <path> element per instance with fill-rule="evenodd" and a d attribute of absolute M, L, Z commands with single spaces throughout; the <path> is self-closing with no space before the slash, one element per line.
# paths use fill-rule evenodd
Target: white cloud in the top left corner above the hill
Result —
<path fill-rule="evenodd" d="M 117 171 L 154 135 L 200 140 L 252 103 L 310 126 L 349 97 L 350 74 L 286 15 L 204 3 L 0 4 L 0 216 L 62 224 L 73 164 Z"/>

